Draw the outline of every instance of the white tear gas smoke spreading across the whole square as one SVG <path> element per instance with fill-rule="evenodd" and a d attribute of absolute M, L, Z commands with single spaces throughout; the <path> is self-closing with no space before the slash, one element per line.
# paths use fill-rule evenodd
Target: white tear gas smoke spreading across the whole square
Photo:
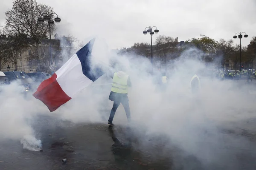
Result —
<path fill-rule="evenodd" d="M 254 87 L 244 86 L 241 81 L 220 81 L 211 77 L 212 72 L 209 70 L 214 66 L 202 62 L 202 52 L 191 48 L 172 63 L 172 69 L 168 68 L 168 88 L 163 92 L 156 82 L 156 79 L 161 77 L 161 69 L 154 68 L 154 76 L 151 76 L 151 63 L 148 59 L 129 54 L 119 56 L 111 53 L 103 44 L 101 40 L 95 42 L 91 65 L 95 66 L 97 63 L 97 66 L 108 72 L 111 70 L 110 65 L 115 61 L 130 75 L 132 88 L 129 89 L 128 97 L 132 120 L 137 122 L 132 128 L 144 127 L 144 133 L 151 136 L 163 134 L 171 141 L 166 148 L 178 146 L 184 153 L 196 156 L 206 167 L 235 157 L 236 151 L 224 148 L 230 145 L 239 147 L 241 143 L 248 144 L 248 140 L 241 136 L 226 137 L 220 132 L 220 128 L 235 128 L 234 124 L 241 125 L 239 122 L 255 118 L 255 96 L 251 94 L 255 92 Z M 196 96 L 192 95 L 190 89 L 190 80 L 194 74 L 201 78 L 202 86 Z M 113 105 L 113 102 L 108 100 L 111 82 L 108 74 L 103 75 L 51 114 L 75 123 L 107 123 Z M 4 139 L 20 139 L 30 135 L 24 139 L 32 141 L 35 145 L 30 146 L 38 150 L 40 142 L 31 137 L 34 132 L 27 120 L 32 119 L 35 114 L 47 114 L 49 111 L 43 103 L 33 97 L 24 100 L 14 94 L 10 90 L 14 86 L 11 84 L 6 87 L 0 96 L 0 101 L 3 101 L 0 103 L 0 135 Z M 125 122 L 125 111 L 123 107 L 119 107 L 113 123 Z M 139 130 L 136 136 L 142 136 Z M 24 144 L 23 140 L 22 143 Z M 144 146 L 147 144 L 142 143 Z M 233 161 L 230 164 L 230 167 L 236 167 L 237 163 Z"/>

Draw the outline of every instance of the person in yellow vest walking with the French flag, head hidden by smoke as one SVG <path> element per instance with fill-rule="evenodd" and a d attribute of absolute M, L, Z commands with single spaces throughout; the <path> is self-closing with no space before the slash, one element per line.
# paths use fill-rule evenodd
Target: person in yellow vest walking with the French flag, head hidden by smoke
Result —
<path fill-rule="evenodd" d="M 113 79 L 112 88 L 109 95 L 109 99 L 114 102 L 113 108 L 108 119 L 108 125 L 113 126 L 113 118 L 116 113 L 116 109 L 122 103 L 128 121 L 131 120 L 129 99 L 128 99 L 128 86 L 131 87 L 131 80 L 128 74 L 124 72 L 124 67 L 119 66 L 119 71 L 110 76 Z"/>

